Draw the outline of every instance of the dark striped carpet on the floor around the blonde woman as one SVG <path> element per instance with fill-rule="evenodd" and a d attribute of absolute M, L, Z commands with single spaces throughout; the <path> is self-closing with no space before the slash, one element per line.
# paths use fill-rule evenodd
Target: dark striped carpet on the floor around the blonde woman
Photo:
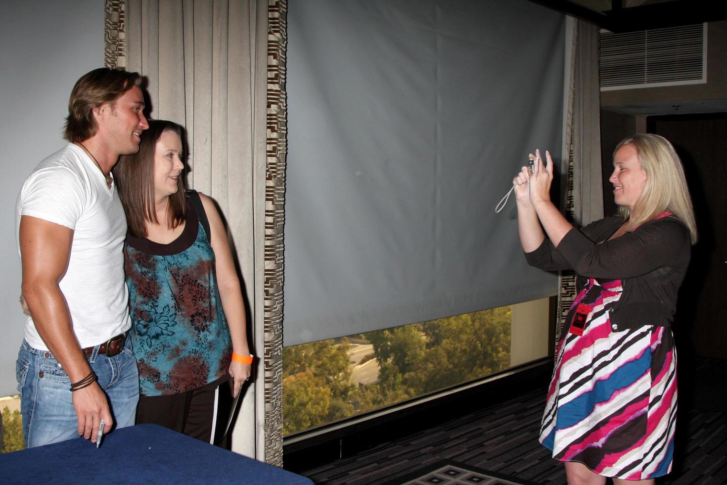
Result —
<path fill-rule="evenodd" d="M 704 382 L 709 384 L 707 388 L 696 379 L 685 384 L 686 392 L 680 391 L 683 400 L 674 469 L 669 476 L 659 479 L 658 485 L 727 484 L 726 404 L 708 398 L 724 392 L 727 380 L 715 379 L 715 373 L 720 375 L 720 369 L 725 372 L 727 361 L 715 360 L 707 369 L 712 377 L 711 382 Z M 553 460 L 549 450 L 537 441 L 544 403 L 545 388 L 531 390 L 503 404 L 483 407 L 443 425 L 303 471 L 302 475 L 326 485 L 403 484 L 415 478 L 411 474 L 417 470 L 441 460 L 454 460 L 522 481 L 565 484 L 563 465 Z M 456 412 L 453 410 L 452 414 Z"/>

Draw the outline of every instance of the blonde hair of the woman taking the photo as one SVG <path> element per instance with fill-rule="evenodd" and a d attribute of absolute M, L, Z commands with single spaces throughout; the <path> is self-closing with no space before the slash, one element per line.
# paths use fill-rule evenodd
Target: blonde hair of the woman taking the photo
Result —
<path fill-rule="evenodd" d="M 619 216 L 624 220 L 632 217 L 632 224 L 629 227 L 629 230 L 632 230 L 656 218 L 662 212 L 669 211 L 686 225 L 691 236 L 691 244 L 696 244 L 694 207 L 686 185 L 684 168 L 672 144 L 659 135 L 640 133 L 624 138 L 616 145 L 614 157 L 616 152 L 626 145 L 636 149 L 639 164 L 646 172 L 646 184 L 634 205 L 633 214 L 628 207 L 619 206 Z"/>

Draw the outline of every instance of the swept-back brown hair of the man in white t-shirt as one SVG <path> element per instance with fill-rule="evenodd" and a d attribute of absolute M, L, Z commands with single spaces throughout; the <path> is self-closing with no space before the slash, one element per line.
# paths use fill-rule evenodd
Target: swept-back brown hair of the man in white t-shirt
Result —
<path fill-rule="evenodd" d="M 76 81 L 68 99 L 65 119 L 65 139 L 82 142 L 96 134 L 93 109 L 104 103 L 116 103 L 126 91 L 141 81 L 139 73 L 121 69 L 98 68 L 85 73 Z"/>

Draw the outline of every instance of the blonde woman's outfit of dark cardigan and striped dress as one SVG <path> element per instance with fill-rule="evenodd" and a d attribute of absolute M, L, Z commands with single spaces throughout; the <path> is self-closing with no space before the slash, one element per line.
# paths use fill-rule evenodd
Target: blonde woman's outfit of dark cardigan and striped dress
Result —
<path fill-rule="evenodd" d="M 677 412 L 670 325 L 691 255 L 686 227 L 663 215 L 609 240 L 622 220 L 573 229 L 526 253 L 531 265 L 574 270 L 579 285 L 558 339 L 539 440 L 561 462 L 645 480 L 672 468 Z M 579 304 L 590 309 L 571 333 Z"/>

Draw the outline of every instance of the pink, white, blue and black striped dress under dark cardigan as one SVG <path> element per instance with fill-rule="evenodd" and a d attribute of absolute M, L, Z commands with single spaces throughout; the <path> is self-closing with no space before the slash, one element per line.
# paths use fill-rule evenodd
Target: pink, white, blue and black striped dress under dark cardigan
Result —
<path fill-rule="evenodd" d="M 593 312 L 581 336 L 563 330 L 540 442 L 563 462 L 643 480 L 672 468 L 676 353 L 668 327 L 612 332 L 608 308 L 621 294 L 620 280 L 589 278 L 577 295 L 573 308 Z"/>

